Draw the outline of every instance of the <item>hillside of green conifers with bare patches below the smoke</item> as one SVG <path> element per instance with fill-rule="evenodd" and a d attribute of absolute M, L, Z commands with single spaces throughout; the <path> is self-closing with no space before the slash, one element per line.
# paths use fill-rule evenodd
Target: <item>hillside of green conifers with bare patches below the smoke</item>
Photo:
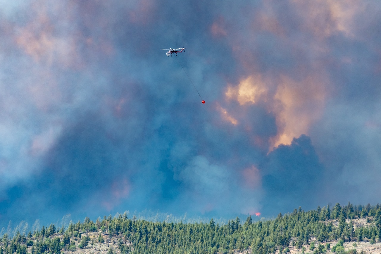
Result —
<path fill-rule="evenodd" d="M 345 244 L 353 242 L 353 249 Z M 357 244 L 355 244 L 357 242 Z M 112 218 L 88 217 L 70 223 L 68 228 L 51 224 L 27 235 L 17 233 L 12 239 L 3 235 L 0 254 L 128 254 L 128 253 L 253 253 L 287 254 L 289 252 L 322 254 L 326 252 L 355 254 L 361 243 L 381 242 L 381 206 L 336 204 L 312 211 L 295 209 L 279 214 L 276 219 L 253 223 L 239 217 L 218 225 L 209 223 L 149 222 L 128 218 L 126 214 Z M 348 244 L 347 244 L 348 245 Z M 363 253 L 372 252 L 370 249 Z"/>

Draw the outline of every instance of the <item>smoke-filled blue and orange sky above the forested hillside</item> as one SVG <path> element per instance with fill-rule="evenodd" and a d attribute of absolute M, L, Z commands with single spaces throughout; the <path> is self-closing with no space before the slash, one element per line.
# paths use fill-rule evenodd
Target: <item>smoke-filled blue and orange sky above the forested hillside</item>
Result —
<path fill-rule="evenodd" d="M 378 203 L 380 11 L 0 0 L 0 226 Z"/>

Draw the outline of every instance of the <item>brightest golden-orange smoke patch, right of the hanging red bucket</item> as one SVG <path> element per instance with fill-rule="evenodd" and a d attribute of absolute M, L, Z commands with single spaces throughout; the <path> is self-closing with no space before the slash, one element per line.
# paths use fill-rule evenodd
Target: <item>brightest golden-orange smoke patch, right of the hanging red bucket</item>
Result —
<path fill-rule="evenodd" d="M 267 88 L 273 84 L 264 80 L 260 74 L 248 76 L 235 87 L 228 85 L 225 95 L 240 105 L 261 101 L 275 114 L 278 133 L 269 140 L 272 150 L 280 144 L 289 145 L 293 138 L 308 133 L 309 127 L 322 114 L 328 80 L 323 74 L 311 74 L 300 81 L 281 75 L 274 95 L 270 95 Z M 231 121 L 230 114 L 223 110 L 225 119 Z"/>

